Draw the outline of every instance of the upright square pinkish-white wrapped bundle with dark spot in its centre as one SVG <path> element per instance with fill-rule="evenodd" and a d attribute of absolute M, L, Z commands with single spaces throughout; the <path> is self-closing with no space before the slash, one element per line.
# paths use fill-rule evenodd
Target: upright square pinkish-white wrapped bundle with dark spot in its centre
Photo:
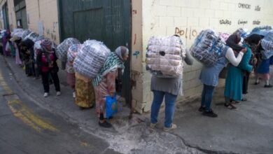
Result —
<path fill-rule="evenodd" d="M 146 70 L 158 77 L 174 78 L 183 73 L 186 50 L 179 36 L 152 36 L 146 52 Z"/>

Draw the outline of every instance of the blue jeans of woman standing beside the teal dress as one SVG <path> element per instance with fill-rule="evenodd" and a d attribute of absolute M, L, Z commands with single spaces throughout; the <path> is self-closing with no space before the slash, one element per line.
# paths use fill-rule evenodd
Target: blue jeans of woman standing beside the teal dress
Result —
<path fill-rule="evenodd" d="M 211 110 L 212 97 L 214 96 L 214 86 L 205 85 L 202 91 L 201 106 L 205 106 L 207 110 Z"/>

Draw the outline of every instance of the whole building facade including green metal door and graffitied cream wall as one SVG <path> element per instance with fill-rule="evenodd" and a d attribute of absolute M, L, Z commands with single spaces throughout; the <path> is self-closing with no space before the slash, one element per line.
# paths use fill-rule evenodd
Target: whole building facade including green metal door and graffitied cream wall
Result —
<path fill-rule="evenodd" d="M 145 63 L 146 46 L 151 36 L 179 34 L 186 47 L 190 48 L 202 29 L 232 33 L 239 27 L 251 30 L 257 26 L 273 25 L 271 0 L 24 1 L 27 28 L 51 38 L 55 43 L 65 37 L 87 39 L 90 36 L 106 42 L 111 50 L 118 44 L 127 45 L 131 56 L 123 78 L 123 94 L 139 113 L 149 111 L 153 100 L 151 74 L 146 71 Z M 15 0 L 0 1 L 1 29 L 5 24 L 10 29 L 17 27 L 16 11 L 23 10 L 24 6 L 16 8 L 16 3 Z M 4 21 L 6 19 L 8 23 Z M 201 68 L 199 62 L 193 66 L 185 65 L 184 96 L 178 101 L 200 96 L 202 84 L 198 77 Z"/>

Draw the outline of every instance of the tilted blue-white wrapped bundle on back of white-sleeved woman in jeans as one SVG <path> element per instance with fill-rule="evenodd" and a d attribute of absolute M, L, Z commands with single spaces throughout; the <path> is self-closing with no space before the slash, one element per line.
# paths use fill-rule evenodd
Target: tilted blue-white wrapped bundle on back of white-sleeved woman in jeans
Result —
<path fill-rule="evenodd" d="M 225 50 L 228 50 L 228 46 L 212 29 L 201 31 L 190 47 L 193 57 L 205 66 L 213 66 Z"/>

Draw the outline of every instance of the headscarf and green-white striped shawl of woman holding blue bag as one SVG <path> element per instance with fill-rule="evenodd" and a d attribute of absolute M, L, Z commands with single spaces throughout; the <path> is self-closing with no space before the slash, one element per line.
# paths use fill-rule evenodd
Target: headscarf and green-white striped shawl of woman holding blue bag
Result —
<path fill-rule="evenodd" d="M 129 50 L 124 46 L 120 46 L 115 50 L 115 52 L 111 52 L 110 55 L 106 58 L 104 66 L 102 66 L 102 69 L 99 70 L 98 75 L 93 79 L 93 85 L 99 85 L 99 83 L 102 81 L 102 78 L 107 73 L 116 69 L 125 69 L 125 66 L 123 64 L 123 57 L 127 52 L 129 52 Z"/>

